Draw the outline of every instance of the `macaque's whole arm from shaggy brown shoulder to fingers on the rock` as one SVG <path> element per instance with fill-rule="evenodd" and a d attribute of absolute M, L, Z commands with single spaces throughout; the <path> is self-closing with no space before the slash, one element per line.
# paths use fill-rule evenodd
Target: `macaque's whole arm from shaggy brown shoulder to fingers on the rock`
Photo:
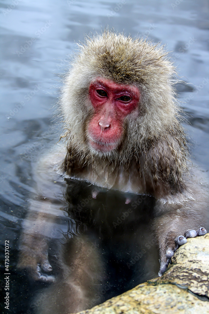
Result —
<path fill-rule="evenodd" d="M 153 227 L 160 252 L 160 273 L 168 266 L 185 237 L 206 233 L 208 208 L 208 178 L 203 171 L 192 167 L 189 171 L 184 138 L 166 134 L 167 139 L 156 141 L 142 159 L 146 191 L 156 199 Z M 207 227 L 207 226 L 206 226 Z M 185 231 L 189 231 L 185 234 Z"/>

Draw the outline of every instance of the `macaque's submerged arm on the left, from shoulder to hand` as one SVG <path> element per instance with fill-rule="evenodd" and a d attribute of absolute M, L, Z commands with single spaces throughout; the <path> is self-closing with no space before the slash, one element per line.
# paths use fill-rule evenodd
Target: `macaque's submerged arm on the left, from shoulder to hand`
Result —
<path fill-rule="evenodd" d="M 65 183 L 56 169 L 63 158 L 60 151 L 53 152 L 42 158 L 34 170 L 36 189 L 23 222 L 18 267 L 27 269 L 35 280 L 53 280 L 53 276 L 44 275 L 41 270 L 52 270 L 48 260 L 49 241 L 59 237 L 56 220 L 64 215 L 60 209 L 66 206 Z"/>

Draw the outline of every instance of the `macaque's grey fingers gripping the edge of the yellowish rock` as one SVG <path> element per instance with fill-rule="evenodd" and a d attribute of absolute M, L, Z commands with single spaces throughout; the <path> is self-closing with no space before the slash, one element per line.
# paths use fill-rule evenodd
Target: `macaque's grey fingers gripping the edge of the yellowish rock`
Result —
<path fill-rule="evenodd" d="M 176 236 L 173 241 L 168 241 L 166 246 L 165 254 L 162 254 L 160 259 L 160 270 L 159 276 L 167 269 L 169 263 L 171 263 L 171 257 L 174 255 L 175 251 L 183 244 L 187 242 L 187 238 L 195 238 L 196 236 L 204 236 L 207 233 L 206 229 L 201 227 L 198 230 L 190 229 L 186 230 L 184 236 Z"/>

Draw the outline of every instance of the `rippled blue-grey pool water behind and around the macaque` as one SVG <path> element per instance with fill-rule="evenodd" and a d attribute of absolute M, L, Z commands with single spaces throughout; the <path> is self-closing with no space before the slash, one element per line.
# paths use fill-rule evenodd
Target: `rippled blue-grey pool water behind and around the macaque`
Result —
<path fill-rule="evenodd" d="M 59 138 L 53 118 L 61 85 L 58 74 L 68 68 L 75 42 L 82 42 L 84 33 L 100 32 L 109 25 L 167 46 L 180 79 L 187 83 L 178 84 L 177 90 L 194 140 L 193 155 L 208 171 L 208 0 L 5 0 L 0 2 L 0 13 L 0 232 L 3 249 L 4 240 L 10 240 L 11 268 L 33 188 L 32 163 Z M 3 278 L 0 285 L 3 288 Z M 16 287 L 13 300 L 21 293 L 27 294 Z M 24 306 L 12 306 L 13 313 L 26 311 Z"/>

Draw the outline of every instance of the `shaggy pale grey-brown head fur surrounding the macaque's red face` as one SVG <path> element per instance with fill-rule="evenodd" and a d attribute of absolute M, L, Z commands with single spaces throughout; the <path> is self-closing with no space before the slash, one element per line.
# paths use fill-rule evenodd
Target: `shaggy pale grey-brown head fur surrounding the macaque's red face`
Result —
<path fill-rule="evenodd" d="M 69 162 L 76 153 L 81 164 L 104 158 L 126 164 L 131 156 L 135 156 L 140 164 L 143 155 L 144 167 L 157 169 L 156 178 L 167 178 L 170 172 L 176 178 L 186 171 L 187 144 L 177 120 L 174 74 L 175 68 L 159 44 L 112 31 L 87 37 L 85 43 L 79 45 L 62 90 L 61 109 L 67 129 Z M 106 155 L 90 151 L 86 143 L 86 126 L 93 115 L 88 90 L 90 83 L 98 77 L 135 85 L 141 94 L 139 115 L 132 117 L 130 114 L 125 119 L 122 145 Z M 163 159 L 165 164 L 166 158 L 172 159 L 172 167 L 168 163 L 160 170 L 160 160 Z"/>

